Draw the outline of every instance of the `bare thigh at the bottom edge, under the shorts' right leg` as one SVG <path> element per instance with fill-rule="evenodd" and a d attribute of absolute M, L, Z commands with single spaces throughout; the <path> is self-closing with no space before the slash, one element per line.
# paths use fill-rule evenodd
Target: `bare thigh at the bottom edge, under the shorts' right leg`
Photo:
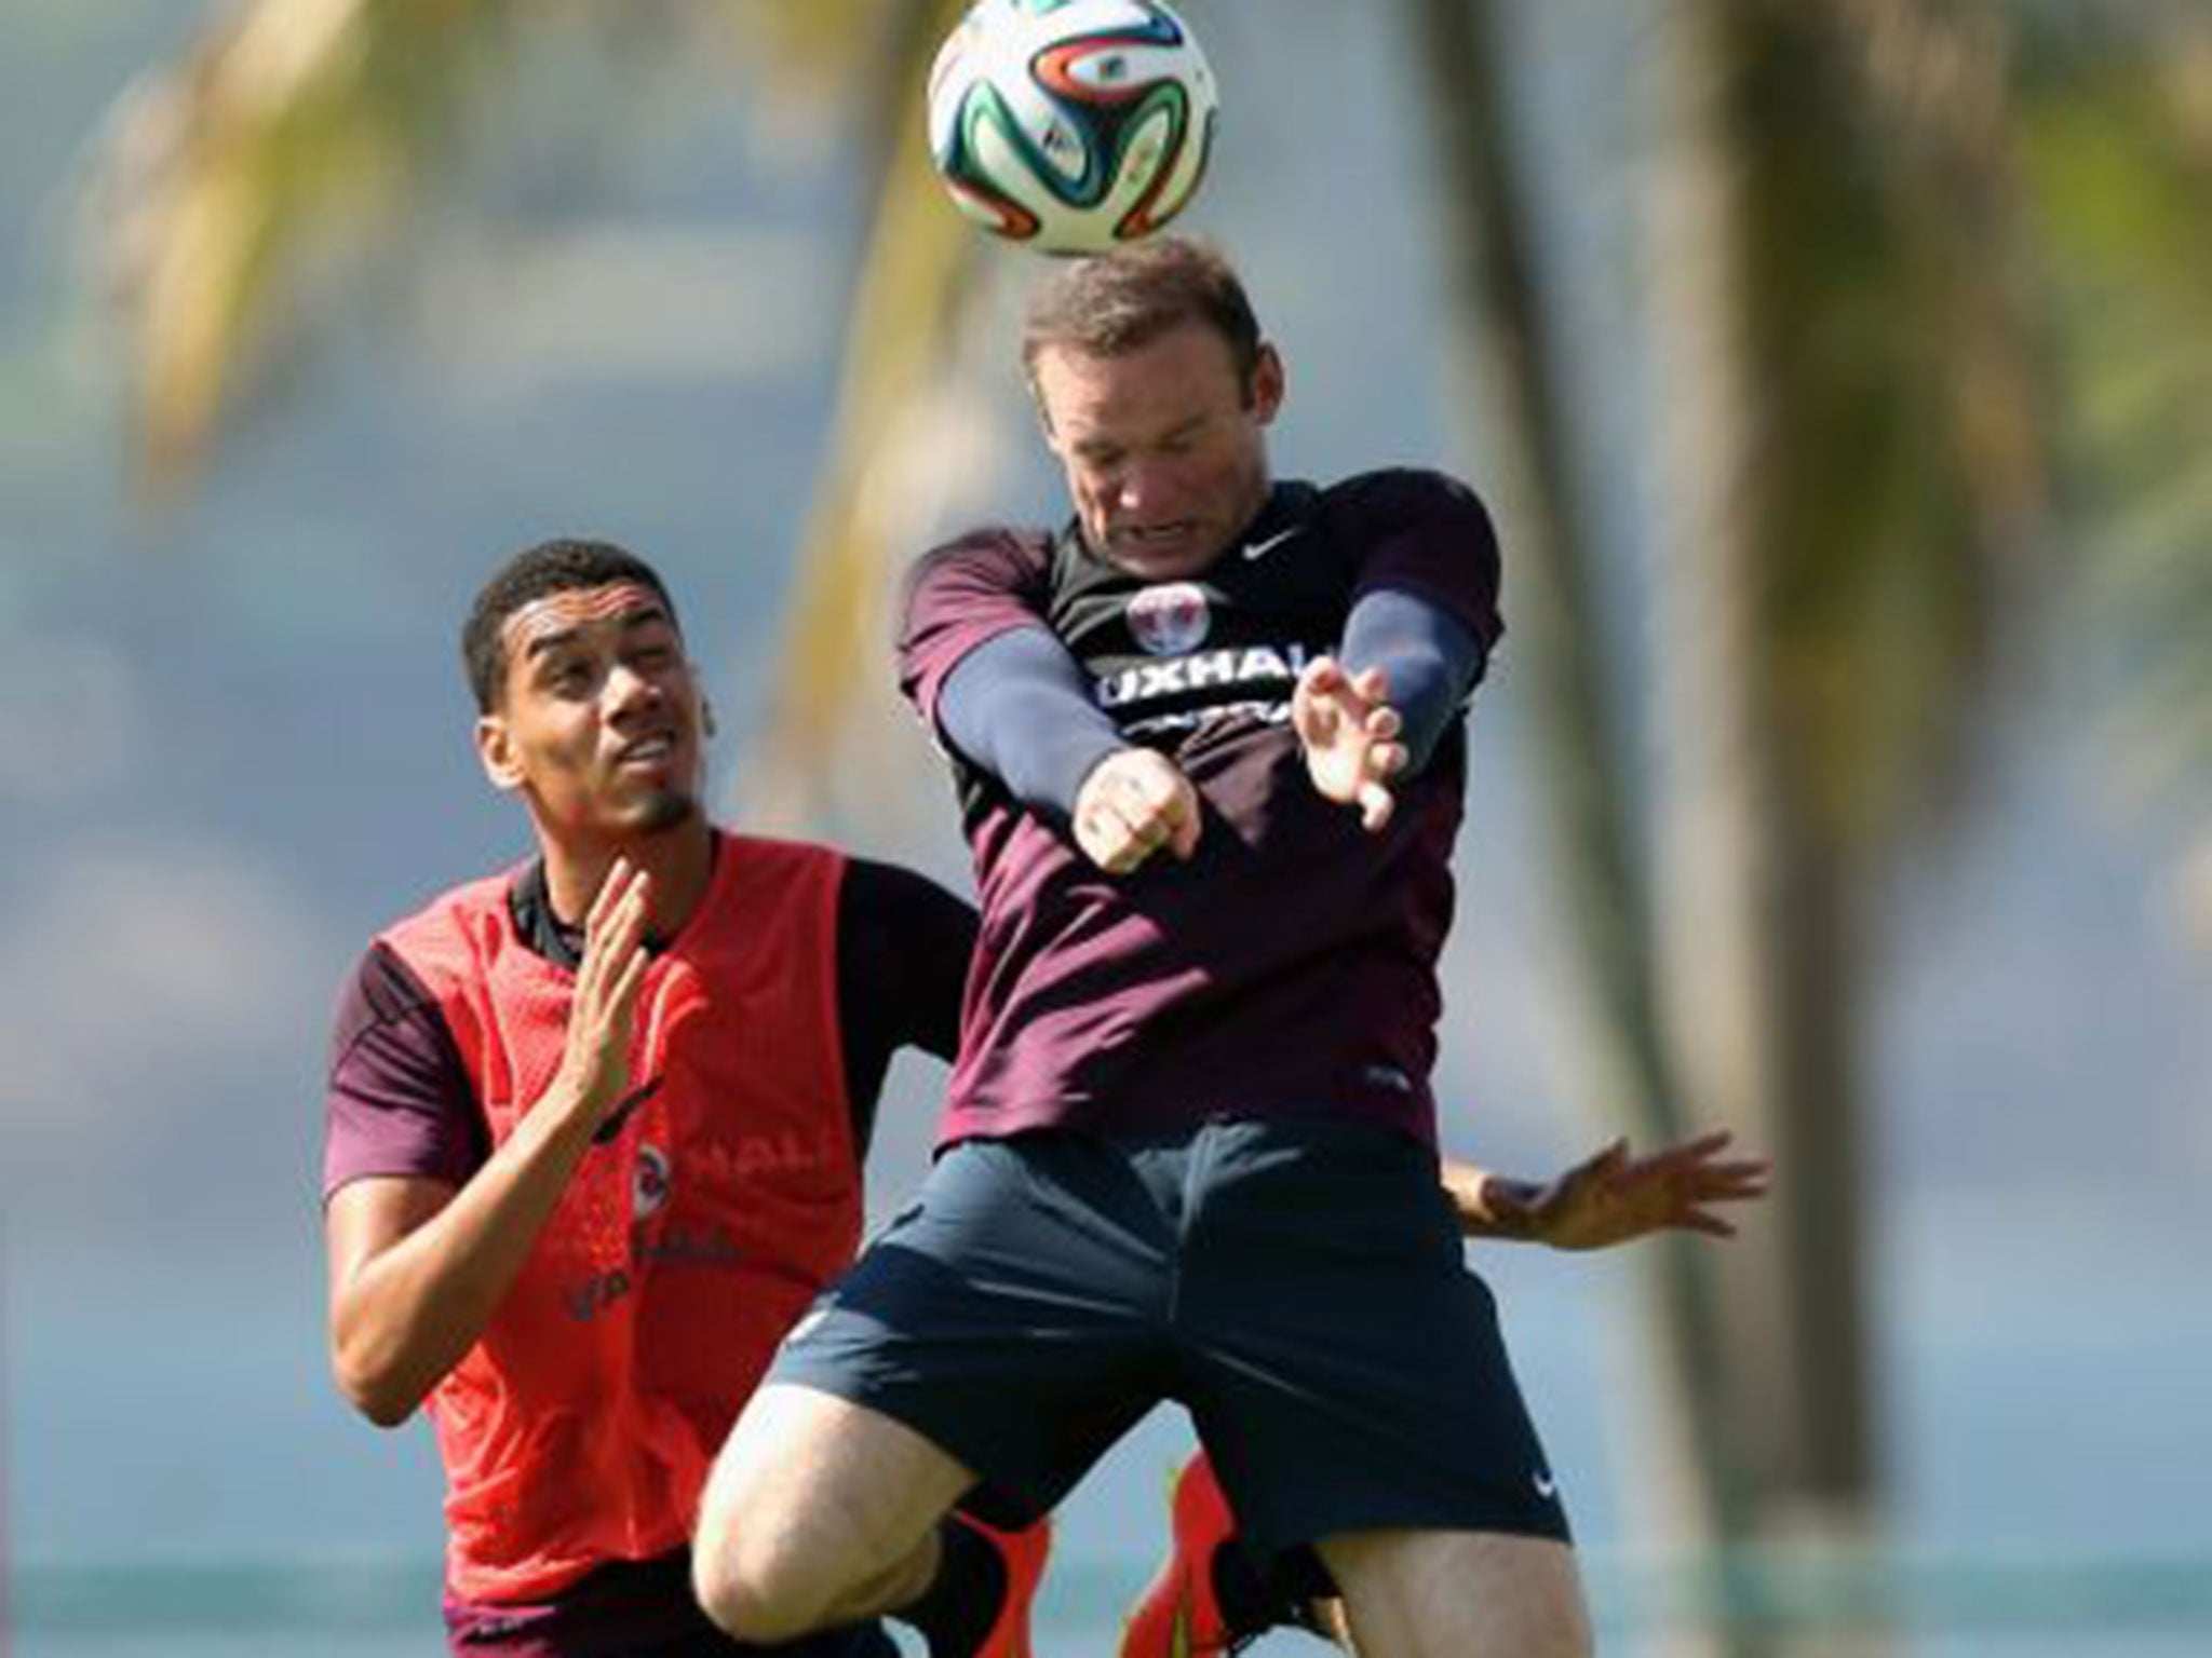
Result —
<path fill-rule="evenodd" d="M 1575 1554 L 1504 1532 L 1345 1532 L 1321 1545 L 1354 1649 L 1378 1658 L 1588 1658 Z"/>

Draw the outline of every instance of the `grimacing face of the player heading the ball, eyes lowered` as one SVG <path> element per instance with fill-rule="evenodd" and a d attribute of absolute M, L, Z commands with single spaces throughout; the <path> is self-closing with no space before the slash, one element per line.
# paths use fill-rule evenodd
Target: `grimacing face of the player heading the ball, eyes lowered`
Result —
<path fill-rule="evenodd" d="M 1197 575 L 1267 500 L 1265 433 L 1283 400 L 1272 347 L 1250 385 L 1203 323 L 1119 356 L 1048 345 L 1031 371 L 1084 539 L 1130 575 Z"/>

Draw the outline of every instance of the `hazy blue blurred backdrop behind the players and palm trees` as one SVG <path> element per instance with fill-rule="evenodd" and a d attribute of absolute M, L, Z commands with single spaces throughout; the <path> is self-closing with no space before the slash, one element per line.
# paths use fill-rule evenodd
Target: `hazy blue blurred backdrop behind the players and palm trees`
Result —
<path fill-rule="evenodd" d="M 1294 29 L 1188 11 L 1228 108 L 1192 217 L 1243 261 L 1290 358 L 1279 469 L 1413 460 L 1480 482 L 1436 349 L 1402 44 L 1325 0 L 1267 7 Z M 427 1433 L 349 1419 L 323 1368 L 332 997 L 378 924 L 524 849 L 469 752 L 453 634 L 531 539 L 606 533 L 664 566 L 726 716 L 721 802 L 750 820 L 858 243 L 832 128 L 763 115 L 743 64 L 595 82 L 546 51 L 414 274 L 288 351 L 197 493 L 146 517 L 71 186 L 111 99 L 199 13 L 29 0 L 0 55 L 0 1490 L 24 1654 L 131 1649 L 55 1612 L 80 1570 L 434 1556 Z M 1522 113 L 1557 186 L 1548 276 L 1590 393 L 1584 489 L 1635 548 L 1655 418 L 1621 166 L 1639 9 L 1515 15 Z M 1011 305 L 1022 274 L 993 256 L 987 303 Z M 918 544 L 1055 500 L 1011 351 L 964 365 L 945 449 L 958 478 L 936 480 Z M 1668 648 L 1635 623 L 1617 643 Z M 805 827 L 964 882 L 925 743 L 880 663 L 852 672 L 880 716 L 825 756 L 854 780 Z M 1916 1550 L 2212 1565 L 2212 973 L 2161 827 L 2112 800 L 2086 690 L 2064 650 L 2020 668 L 1986 800 L 1896 898 L 1874 1066 L 1887 1448 Z M 1442 1077 L 1455 1150 L 1540 1172 L 1601 1125 L 1564 1063 L 1515 725 L 1509 646 L 1475 718 Z M 920 1061 L 894 1074 L 880 1203 L 920 1172 L 936 1081 Z M 1482 1265 L 1593 1556 L 1659 1547 L 1635 1265 Z M 1179 1444 L 1157 1419 L 1071 1508 L 1062 1552 L 1093 1601 L 1141 1578 Z M 1093 1601 L 1068 1629 L 1093 1627 Z M 429 1649 L 427 1605 L 392 1616 L 400 1634 L 361 1654 Z M 2053 1651 L 2183 1649 L 2168 1638 Z"/>

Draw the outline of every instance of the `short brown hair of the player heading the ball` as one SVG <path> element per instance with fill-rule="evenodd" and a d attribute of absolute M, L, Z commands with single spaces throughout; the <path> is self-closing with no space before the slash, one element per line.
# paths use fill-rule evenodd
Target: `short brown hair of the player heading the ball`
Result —
<path fill-rule="evenodd" d="M 1086 356 L 1121 356 L 1183 323 L 1201 323 L 1230 347 L 1237 382 L 1259 367 L 1259 318 L 1230 261 L 1183 237 L 1150 237 L 1088 259 L 1071 259 L 1029 298 L 1022 369 L 1037 380 L 1037 356 L 1055 345 Z"/>

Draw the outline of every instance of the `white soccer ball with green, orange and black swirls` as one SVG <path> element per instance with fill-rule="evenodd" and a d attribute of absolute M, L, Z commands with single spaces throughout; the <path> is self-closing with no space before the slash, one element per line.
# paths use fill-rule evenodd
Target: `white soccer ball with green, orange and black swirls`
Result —
<path fill-rule="evenodd" d="M 1044 252 L 1099 252 L 1183 210 L 1214 71 L 1159 0 L 978 0 L 929 71 L 929 153 L 960 210 Z"/>

